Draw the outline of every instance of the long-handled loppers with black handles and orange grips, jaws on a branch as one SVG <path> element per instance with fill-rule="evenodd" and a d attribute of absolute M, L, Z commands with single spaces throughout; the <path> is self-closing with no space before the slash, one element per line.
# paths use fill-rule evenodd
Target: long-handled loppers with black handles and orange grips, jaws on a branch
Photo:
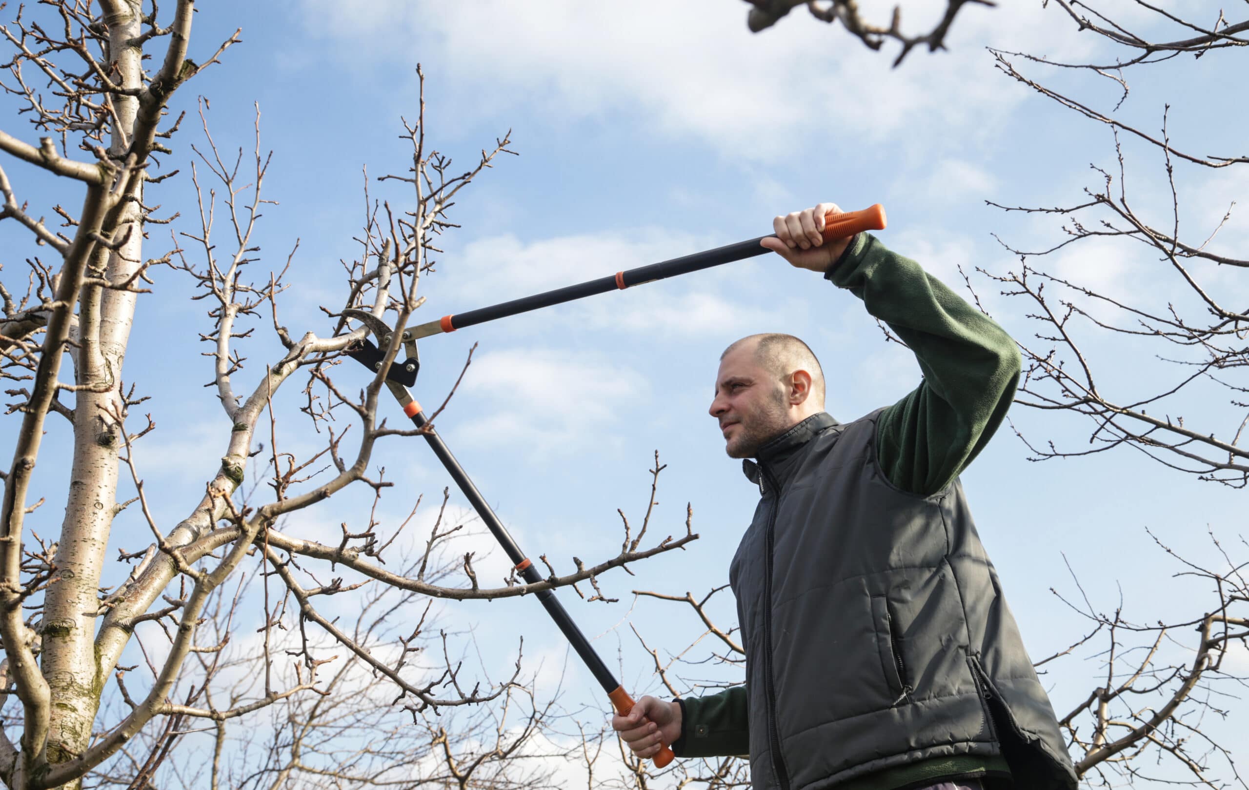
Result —
<path fill-rule="evenodd" d="M 824 218 L 824 238 L 844 238 L 847 236 L 853 236 L 859 231 L 881 230 L 883 227 L 884 210 L 879 203 L 877 203 L 876 206 L 863 211 L 827 215 Z M 711 268 L 731 261 L 741 261 L 743 258 L 763 255 L 764 252 L 768 252 L 768 250 L 759 246 L 759 241 L 762 238 L 764 237 L 761 236 L 758 238 L 738 242 L 727 247 L 708 250 L 706 252 L 673 258 L 662 263 L 652 263 L 649 266 L 617 272 L 612 277 L 591 280 L 576 286 L 568 286 L 566 288 L 558 288 L 511 302 L 503 302 L 502 305 L 482 307 L 458 316 L 445 316 L 441 321 L 433 321 L 403 331 L 400 337 L 400 342 L 407 353 L 407 358 L 403 362 L 398 362 L 396 359 L 391 364 L 390 369 L 386 371 L 386 386 L 398 401 L 403 413 L 411 418 L 412 424 L 417 428 L 422 428 L 422 436 L 425 436 L 426 442 L 430 443 L 430 447 L 433 449 L 433 454 L 442 462 L 442 466 L 451 474 L 451 478 L 456 482 L 456 485 L 460 488 L 461 493 L 463 493 L 465 498 L 468 499 L 470 504 L 472 504 L 473 509 L 486 524 L 486 528 L 495 535 L 498 544 L 503 547 L 503 552 L 513 563 L 513 567 L 517 573 L 521 574 L 521 578 L 526 584 L 537 584 L 542 582 L 542 577 L 538 574 L 537 568 L 533 567 L 530 558 L 525 555 L 525 552 L 521 550 L 521 548 L 512 539 L 512 535 L 508 534 L 503 523 L 498 520 L 497 515 L 495 515 L 495 512 L 486 503 L 481 492 L 478 492 L 477 487 L 473 485 L 472 479 L 468 478 L 468 474 L 463 471 L 463 467 L 460 466 L 460 462 L 457 462 L 455 456 L 451 454 L 451 449 L 447 448 L 442 437 L 440 437 L 433 427 L 430 426 L 425 413 L 421 411 L 421 406 L 412 398 L 412 394 L 407 389 L 416 383 L 416 376 L 421 368 L 421 359 L 416 348 L 417 338 L 428 337 L 441 332 L 453 332 L 455 329 L 476 323 L 485 323 L 486 321 L 515 316 L 531 310 L 560 305 L 562 302 L 593 296 L 596 293 L 603 293 L 605 291 L 623 290 L 629 286 L 642 285 L 653 280 L 687 275 L 689 272 Z M 393 329 L 391 329 L 390 326 L 387 326 L 381 318 L 362 310 L 346 310 L 343 311 L 343 316 L 362 322 L 381 343 L 381 348 L 378 348 L 367 339 L 362 341 L 357 347 L 348 351 L 348 354 L 370 371 L 381 371 L 385 362 L 383 348 L 387 348 L 393 341 Z M 536 595 L 538 602 L 542 603 L 542 607 L 546 608 L 547 614 L 551 615 L 551 619 L 555 620 L 556 625 L 560 627 L 560 630 L 563 632 L 563 635 L 572 644 L 573 650 L 577 651 L 577 655 L 581 656 L 581 660 L 590 669 L 591 674 L 595 675 L 595 679 L 598 680 L 598 683 L 603 686 L 603 690 L 607 691 L 607 698 L 612 701 L 612 706 L 616 711 L 622 716 L 628 715 L 629 710 L 633 709 L 633 698 L 628 695 L 628 691 L 624 690 L 624 688 L 612 675 L 611 670 L 607 669 L 607 665 L 595 651 L 593 646 L 591 646 L 590 640 L 587 640 L 586 635 L 581 633 L 581 629 L 577 628 L 576 623 L 573 623 L 572 617 L 560 603 L 560 599 L 556 598 L 555 592 L 540 590 Z M 672 749 L 664 745 L 663 749 L 654 755 L 656 766 L 663 768 L 672 761 Z"/>

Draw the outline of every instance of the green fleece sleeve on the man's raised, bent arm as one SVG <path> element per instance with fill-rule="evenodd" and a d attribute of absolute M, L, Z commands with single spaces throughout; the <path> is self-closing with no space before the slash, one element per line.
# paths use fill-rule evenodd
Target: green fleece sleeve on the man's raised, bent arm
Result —
<path fill-rule="evenodd" d="M 877 457 L 904 490 L 933 494 L 1002 424 L 1019 383 L 1019 349 L 992 318 L 918 263 L 859 233 L 826 275 L 863 300 L 911 347 L 923 382 L 877 422 Z"/>

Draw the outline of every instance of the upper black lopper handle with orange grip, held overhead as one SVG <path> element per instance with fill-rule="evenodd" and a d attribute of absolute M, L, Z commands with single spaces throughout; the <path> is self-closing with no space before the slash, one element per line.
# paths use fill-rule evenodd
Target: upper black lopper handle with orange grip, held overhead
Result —
<path fill-rule="evenodd" d="M 826 215 L 823 235 L 826 240 L 846 238 L 861 231 L 882 230 L 883 227 L 884 208 L 877 203 L 871 208 L 864 208 L 862 211 Z M 758 238 L 739 241 L 724 247 L 717 247 L 714 250 L 706 250 L 703 252 L 696 252 L 679 258 L 672 258 L 671 261 L 662 261 L 659 263 L 649 263 L 647 266 L 629 268 L 622 272 L 616 272 L 608 277 L 588 280 L 575 286 L 566 286 L 563 288 L 556 288 L 555 291 L 545 291 L 542 293 L 535 293 L 533 296 L 526 296 L 510 302 L 471 310 L 466 313 L 451 313 L 448 316 L 443 316 L 438 321 L 431 321 L 428 323 L 415 326 L 412 327 L 411 333 L 413 338 L 421 338 L 442 332 L 455 332 L 456 329 L 462 329 L 478 323 L 486 323 L 487 321 L 495 321 L 496 318 L 506 318 L 518 313 L 527 313 L 531 310 L 541 310 L 543 307 L 551 307 L 552 305 L 561 305 L 563 302 L 586 298 L 587 296 L 595 296 L 596 293 L 623 291 L 624 288 L 631 288 L 633 286 L 654 282 L 656 280 L 688 275 L 691 272 L 711 268 L 713 266 L 753 258 L 754 256 L 768 252 L 767 247 L 759 245 L 759 242 L 764 238 L 767 238 L 767 236 L 759 236 Z"/>

